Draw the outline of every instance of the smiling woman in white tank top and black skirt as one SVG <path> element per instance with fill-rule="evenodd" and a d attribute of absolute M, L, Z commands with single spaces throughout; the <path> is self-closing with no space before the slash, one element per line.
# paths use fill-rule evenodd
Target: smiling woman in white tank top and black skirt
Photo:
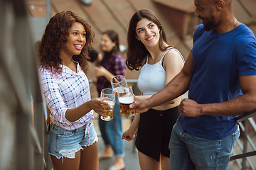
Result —
<path fill-rule="evenodd" d="M 154 12 L 140 9 L 129 22 L 127 35 L 127 67 L 141 69 L 138 86 L 146 99 L 164 88 L 183 68 L 183 57 L 169 45 L 164 28 Z M 131 141 L 137 132 L 136 147 L 142 170 L 169 169 L 169 139 L 178 118 L 181 97 L 137 113 L 122 138 Z"/>

